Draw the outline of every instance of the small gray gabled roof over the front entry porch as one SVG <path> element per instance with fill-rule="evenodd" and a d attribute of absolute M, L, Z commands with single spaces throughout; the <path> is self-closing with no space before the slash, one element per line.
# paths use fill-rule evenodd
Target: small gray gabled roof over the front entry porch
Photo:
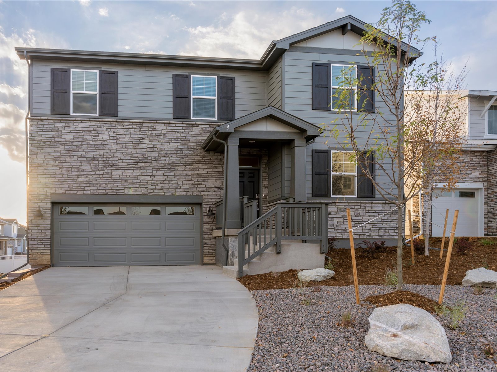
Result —
<path fill-rule="evenodd" d="M 243 125 L 252 123 L 259 119 L 270 118 L 276 120 L 282 124 L 288 125 L 290 128 L 296 129 L 303 134 L 303 138 L 306 141 L 310 141 L 313 138 L 319 137 L 321 134 L 320 127 L 306 122 L 296 116 L 288 114 L 280 109 L 277 109 L 273 106 L 265 107 L 259 111 L 255 111 L 248 115 L 245 115 L 241 118 L 235 119 L 231 122 L 222 124 L 220 126 L 215 127 L 209 133 L 209 136 L 205 139 L 202 144 L 202 149 L 204 151 L 213 151 L 219 147 L 220 143 L 214 139 L 214 136 L 221 140 L 226 140 L 227 137 L 230 136 L 231 133 L 235 131 L 236 128 L 241 127 Z M 278 132 L 273 132 L 275 135 L 275 139 L 278 138 Z"/>

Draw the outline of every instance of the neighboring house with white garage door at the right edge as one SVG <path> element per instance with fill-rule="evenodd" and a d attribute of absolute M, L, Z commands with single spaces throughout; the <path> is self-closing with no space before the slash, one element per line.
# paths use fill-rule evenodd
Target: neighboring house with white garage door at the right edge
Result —
<path fill-rule="evenodd" d="M 451 226 L 454 210 L 459 210 L 456 236 L 497 235 L 497 91 L 461 90 L 460 107 L 466 110 L 465 133 L 461 168 L 464 174 L 457 188 L 441 193 L 435 190 L 431 219 L 432 236 L 442 236 L 446 210 L 449 209 L 447 229 Z M 446 182 L 438 180 L 438 186 Z M 419 199 L 423 210 L 427 196 L 420 193 L 408 206 L 419 213 Z M 424 225 L 421 229 L 424 229 Z M 415 217 L 414 235 L 422 232 L 419 217 Z M 449 231 L 449 230 L 448 230 Z M 448 235 L 448 233 L 446 234 Z"/>

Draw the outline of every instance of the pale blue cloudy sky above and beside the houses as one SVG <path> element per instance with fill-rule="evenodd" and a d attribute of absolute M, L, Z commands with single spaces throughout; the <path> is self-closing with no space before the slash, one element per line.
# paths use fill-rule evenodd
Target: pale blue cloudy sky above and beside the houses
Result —
<path fill-rule="evenodd" d="M 497 90 L 497 1 L 416 1 L 470 89 Z M 25 222 L 27 67 L 15 46 L 258 59 L 271 40 L 347 14 L 375 22 L 390 1 L 0 0 L 0 217 Z M 479 26 L 478 28 L 476 26 Z M 431 51 L 422 57 L 430 61 Z"/>

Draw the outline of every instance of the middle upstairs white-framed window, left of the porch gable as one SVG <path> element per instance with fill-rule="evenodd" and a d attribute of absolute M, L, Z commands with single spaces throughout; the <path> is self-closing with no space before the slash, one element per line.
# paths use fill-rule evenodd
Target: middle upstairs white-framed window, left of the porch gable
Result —
<path fill-rule="evenodd" d="M 217 119 L 217 77 L 191 75 L 191 118 Z"/>

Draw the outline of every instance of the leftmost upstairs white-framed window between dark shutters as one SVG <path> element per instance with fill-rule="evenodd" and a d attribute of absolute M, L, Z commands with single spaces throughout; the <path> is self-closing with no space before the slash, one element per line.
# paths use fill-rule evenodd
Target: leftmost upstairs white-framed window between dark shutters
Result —
<path fill-rule="evenodd" d="M 71 115 L 98 115 L 98 71 L 71 70 Z"/>

